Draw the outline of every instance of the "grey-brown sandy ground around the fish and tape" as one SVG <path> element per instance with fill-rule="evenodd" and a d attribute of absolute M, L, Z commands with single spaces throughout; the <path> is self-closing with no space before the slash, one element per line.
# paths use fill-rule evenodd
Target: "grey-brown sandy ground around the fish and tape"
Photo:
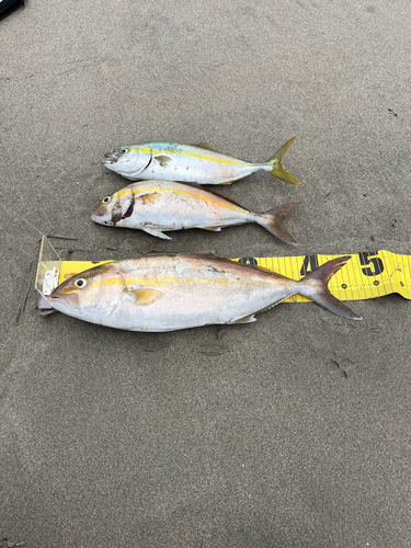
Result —
<path fill-rule="evenodd" d="M 72 260 L 411 254 L 410 27 L 406 0 L 27 0 L 0 22 L 1 548 L 411 546 L 409 301 L 145 334 L 41 317 L 34 289 L 41 233 Z M 217 191 L 302 202 L 298 248 L 90 220 L 126 184 L 114 147 L 265 161 L 295 135 L 299 186 Z"/>

